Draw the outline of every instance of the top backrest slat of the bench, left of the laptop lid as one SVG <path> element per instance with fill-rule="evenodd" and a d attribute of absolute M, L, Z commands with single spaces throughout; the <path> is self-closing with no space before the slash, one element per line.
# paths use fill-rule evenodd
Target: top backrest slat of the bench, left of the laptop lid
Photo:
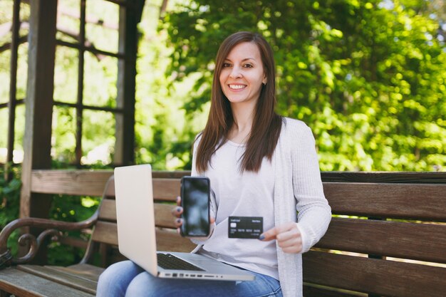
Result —
<path fill-rule="evenodd" d="M 102 196 L 112 171 L 33 170 L 31 192 Z"/>

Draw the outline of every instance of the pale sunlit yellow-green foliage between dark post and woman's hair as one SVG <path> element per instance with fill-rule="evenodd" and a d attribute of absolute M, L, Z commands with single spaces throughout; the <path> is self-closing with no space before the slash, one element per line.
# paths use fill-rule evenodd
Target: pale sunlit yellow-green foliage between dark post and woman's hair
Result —
<path fill-rule="evenodd" d="M 206 115 L 187 117 L 182 106 L 194 92 L 192 86 L 199 75 L 182 80 L 173 74 L 166 78 L 172 48 L 167 45 L 167 34 L 156 30 L 159 17 L 159 9 L 148 5 L 140 23 L 135 159 L 136 163 L 152 164 L 156 170 L 190 168 L 190 140 L 196 127 L 203 127 Z"/>

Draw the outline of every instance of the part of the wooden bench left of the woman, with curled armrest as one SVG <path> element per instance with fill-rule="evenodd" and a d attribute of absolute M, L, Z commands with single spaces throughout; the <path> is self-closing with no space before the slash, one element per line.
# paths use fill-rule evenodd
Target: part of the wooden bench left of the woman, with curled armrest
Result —
<path fill-rule="evenodd" d="M 175 198 L 180 194 L 180 179 L 166 178 L 169 173 L 156 173 L 153 179 L 155 197 L 155 213 L 157 229 L 157 249 L 165 251 L 192 251 L 195 247 L 188 239 L 177 234 L 173 224 L 171 210 L 175 205 Z M 178 175 L 178 174 L 177 174 Z M 165 176 L 165 177 L 164 177 Z M 78 180 L 78 183 L 73 183 Z M 106 184 L 103 182 L 107 180 Z M 95 184 L 101 183 L 98 190 Z M 0 234 L 0 255 L 3 261 L 8 256 L 6 239 L 19 226 L 33 226 L 46 229 L 33 243 L 31 253 L 23 259 L 9 260 L 12 267 L 0 270 L 0 290 L 4 291 L 1 297 L 8 296 L 6 292 L 15 296 L 95 296 L 98 276 L 104 270 L 102 267 L 90 263 L 94 251 L 99 251 L 101 266 L 106 267 L 116 261 L 125 259 L 119 254 L 118 235 L 116 229 L 115 184 L 111 172 L 33 172 L 33 192 L 98 195 L 103 191 L 103 199 L 98 211 L 79 223 L 63 223 L 47 219 L 18 219 L 11 222 Z M 105 189 L 103 184 L 105 184 Z M 40 266 L 25 264 L 32 259 L 33 251 L 43 241 L 43 236 L 58 235 L 56 230 L 78 230 L 93 226 L 88 247 L 81 263 L 62 266 Z M 138 232 L 138 231 L 135 231 Z M 33 241 L 32 237 L 28 238 Z M 0 260 L 1 263 L 1 260 Z"/>

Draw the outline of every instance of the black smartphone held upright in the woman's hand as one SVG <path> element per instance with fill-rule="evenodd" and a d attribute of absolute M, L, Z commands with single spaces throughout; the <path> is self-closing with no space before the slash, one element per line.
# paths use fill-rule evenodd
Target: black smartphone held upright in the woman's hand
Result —
<path fill-rule="evenodd" d="M 182 236 L 209 235 L 210 192 L 209 178 L 182 177 L 181 206 L 183 209 L 183 223 L 180 229 Z"/>

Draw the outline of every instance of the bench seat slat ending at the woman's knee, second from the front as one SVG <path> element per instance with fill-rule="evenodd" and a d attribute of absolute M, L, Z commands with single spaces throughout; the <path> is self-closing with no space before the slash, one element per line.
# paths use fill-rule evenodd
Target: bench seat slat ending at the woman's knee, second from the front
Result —
<path fill-rule="evenodd" d="M 87 278 L 78 277 L 76 273 L 58 271 L 48 266 L 20 265 L 17 266 L 17 269 L 85 293 L 95 294 L 96 286 L 98 286 L 98 281 L 91 281 Z"/>

